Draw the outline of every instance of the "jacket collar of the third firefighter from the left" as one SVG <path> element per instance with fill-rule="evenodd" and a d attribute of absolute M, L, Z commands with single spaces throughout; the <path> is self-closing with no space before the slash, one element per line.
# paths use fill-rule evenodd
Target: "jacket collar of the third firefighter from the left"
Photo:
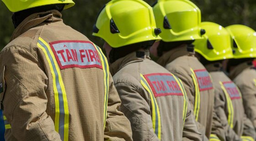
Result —
<path fill-rule="evenodd" d="M 159 65 L 165 66 L 175 60 L 176 58 L 184 55 L 195 55 L 195 52 L 188 52 L 187 45 L 181 45 L 179 47 L 175 47 L 168 52 L 165 52 L 158 60 L 157 63 Z"/>

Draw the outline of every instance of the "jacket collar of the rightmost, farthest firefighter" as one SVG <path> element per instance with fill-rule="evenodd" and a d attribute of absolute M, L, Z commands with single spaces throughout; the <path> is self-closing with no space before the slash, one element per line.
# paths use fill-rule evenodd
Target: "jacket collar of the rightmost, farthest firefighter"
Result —
<path fill-rule="evenodd" d="M 247 61 L 237 65 L 232 71 L 229 73 L 229 77 L 233 80 L 236 76 L 238 76 L 242 71 L 246 69 L 252 68 L 253 65 L 249 64 Z"/>

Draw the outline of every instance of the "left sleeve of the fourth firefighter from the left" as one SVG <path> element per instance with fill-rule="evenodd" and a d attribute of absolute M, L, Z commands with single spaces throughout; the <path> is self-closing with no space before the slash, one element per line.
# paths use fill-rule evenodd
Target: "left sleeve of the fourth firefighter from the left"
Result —
<path fill-rule="evenodd" d="M 213 121 L 212 133 L 216 134 L 219 139 L 224 141 L 241 141 L 240 136 L 238 136 L 228 124 L 228 119 L 225 113 L 225 104 L 226 98 L 224 92 L 222 90 L 215 89 L 214 111 L 216 114 L 213 118 L 218 118 L 220 120 L 220 125 L 218 122 Z M 222 128 L 220 128 L 220 126 L 222 126 Z M 224 129 L 224 132 L 220 129 Z"/>

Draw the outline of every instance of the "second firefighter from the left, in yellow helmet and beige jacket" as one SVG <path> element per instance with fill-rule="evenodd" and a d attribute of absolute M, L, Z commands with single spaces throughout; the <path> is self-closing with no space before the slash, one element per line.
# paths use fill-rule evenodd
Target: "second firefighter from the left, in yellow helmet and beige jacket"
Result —
<path fill-rule="evenodd" d="M 110 72 L 134 141 L 201 141 L 181 81 L 149 58 L 148 48 L 159 33 L 147 3 L 112 0 L 100 12 L 93 35 L 106 41 Z"/>

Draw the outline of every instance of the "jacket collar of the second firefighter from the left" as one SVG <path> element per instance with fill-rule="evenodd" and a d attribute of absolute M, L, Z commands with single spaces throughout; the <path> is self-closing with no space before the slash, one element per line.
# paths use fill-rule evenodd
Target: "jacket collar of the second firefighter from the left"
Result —
<path fill-rule="evenodd" d="M 137 57 L 138 51 L 144 52 L 145 55 L 143 57 Z M 111 75 L 114 76 L 120 69 L 122 69 L 124 66 L 128 64 L 131 64 L 134 62 L 140 62 L 146 58 L 150 59 L 149 50 L 138 50 L 138 51 L 134 51 L 122 58 L 117 59 L 115 62 L 110 64 L 109 70 Z"/>

